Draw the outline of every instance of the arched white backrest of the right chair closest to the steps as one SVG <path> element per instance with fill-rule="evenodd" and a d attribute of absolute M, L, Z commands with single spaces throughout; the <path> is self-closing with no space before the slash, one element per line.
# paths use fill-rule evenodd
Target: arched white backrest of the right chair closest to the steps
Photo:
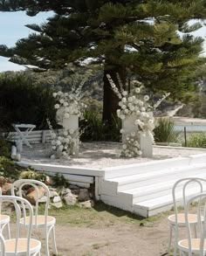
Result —
<path fill-rule="evenodd" d="M 178 204 L 185 209 L 189 198 L 203 191 L 206 191 L 206 179 L 201 177 L 186 177 L 175 182 L 172 189 L 175 220 L 177 220 Z"/>

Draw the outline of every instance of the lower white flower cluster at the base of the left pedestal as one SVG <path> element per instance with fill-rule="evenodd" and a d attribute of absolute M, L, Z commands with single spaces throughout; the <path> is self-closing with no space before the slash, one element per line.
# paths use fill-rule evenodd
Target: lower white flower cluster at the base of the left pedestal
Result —
<path fill-rule="evenodd" d="M 79 147 L 79 129 L 63 129 L 60 134 L 55 132 L 50 121 L 47 120 L 52 137 L 52 159 L 65 158 L 76 154 L 76 149 Z"/>

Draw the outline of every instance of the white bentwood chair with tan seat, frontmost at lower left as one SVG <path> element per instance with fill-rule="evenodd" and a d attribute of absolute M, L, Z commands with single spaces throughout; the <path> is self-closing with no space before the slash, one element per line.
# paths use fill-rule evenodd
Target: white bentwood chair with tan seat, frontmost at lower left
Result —
<path fill-rule="evenodd" d="M 3 242 L 3 246 L 1 246 L 2 255 L 4 250 L 5 256 L 40 256 L 41 242 L 38 239 L 31 239 L 33 210 L 30 202 L 22 197 L 0 196 L 0 205 L 2 205 L 3 202 L 14 204 L 17 221 L 14 239 L 4 239 L 3 241 L 3 236 L 1 236 L 1 241 Z M 27 209 L 26 212 L 21 211 L 21 206 L 23 205 Z M 21 218 L 24 218 L 24 220 L 28 219 L 28 229 L 24 238 L 19 236 Z"/>

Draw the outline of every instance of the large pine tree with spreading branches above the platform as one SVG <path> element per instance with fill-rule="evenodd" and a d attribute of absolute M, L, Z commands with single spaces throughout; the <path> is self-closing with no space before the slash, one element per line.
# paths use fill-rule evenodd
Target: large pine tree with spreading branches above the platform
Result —
<path fill-rule="evenodd" d="M 42 70 L 64 68 L 88 57 L 104 68 L 103 119 L 112 120 L 118 107 L 106 79 L 116 73 L 126 85 L 135 76 L 151 91 L 169 91 L 174 98 L 194 89 L 191 82 L 203 38 L 189 32 L 192 18 L 206 17 L 203 0 L 2 0 L 0 10 L 26 10 L 28 15 L 53 10 L 45 24 L 29 24 L 32 33 L 13 48 L 0 47 L 0 55 L 10 61 L 38 66 Z"/>

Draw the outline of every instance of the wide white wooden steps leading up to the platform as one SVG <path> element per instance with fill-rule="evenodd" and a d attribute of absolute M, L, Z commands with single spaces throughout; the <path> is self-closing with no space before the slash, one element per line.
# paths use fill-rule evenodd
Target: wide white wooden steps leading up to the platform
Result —
<path fill-rule="evenodd" d="M 100 199 L 143 217 L 152 216 L 172 208 L 172 187 L 183 177 L 206 179 L 206 154 L 156 161 L 148 166 L 146 163 L 130 165 L 125 170 L 120 167 L 119 172 L 113 168 L 101 180 Z M 191 185 L 189 193 L 196 192 L 196 187 Z"/>

